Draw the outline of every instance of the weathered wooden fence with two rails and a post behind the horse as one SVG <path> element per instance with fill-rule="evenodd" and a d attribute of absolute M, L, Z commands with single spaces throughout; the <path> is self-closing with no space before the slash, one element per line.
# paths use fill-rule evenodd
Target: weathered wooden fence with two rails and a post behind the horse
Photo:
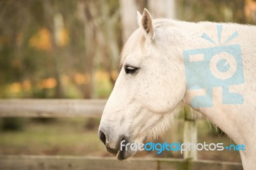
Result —
<path fill-rule="evenodd" d="M 105 104 L 106 100 L 0 100 L 0 117 L 99 118 Z M 196 143 L 196 117 L 191 114 L 184 115 L 184 143 Z M 114 158 L 0 155 L 0 169 L 243 169 L 239 163 L 197 160 L 196 158 L 194 150 L 186 151 L 184 159 L 139 158 L 131 164 L 118 162 Z"/>

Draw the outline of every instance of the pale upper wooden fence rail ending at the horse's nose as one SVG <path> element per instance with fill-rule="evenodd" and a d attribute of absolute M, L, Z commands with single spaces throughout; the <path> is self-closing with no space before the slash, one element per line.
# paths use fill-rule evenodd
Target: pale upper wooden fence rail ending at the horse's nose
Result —
<path fill-rule="evenodd" d="M 7 99 L 0 100 L 0 117 L 100 118 L 106 100 Z"/>

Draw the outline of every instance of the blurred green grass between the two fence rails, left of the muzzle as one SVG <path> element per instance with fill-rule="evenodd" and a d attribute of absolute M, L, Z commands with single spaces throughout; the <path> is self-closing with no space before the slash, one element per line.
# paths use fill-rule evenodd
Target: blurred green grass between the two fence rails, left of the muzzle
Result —
<path fill-rule="evenodd" d="M 0 154 L 90 155 L 102 151 L 97 130 L 86 130 L 85 119 L 59 119 L 51 123 L 26 120 L 20 132 L 0 132 Z"/>

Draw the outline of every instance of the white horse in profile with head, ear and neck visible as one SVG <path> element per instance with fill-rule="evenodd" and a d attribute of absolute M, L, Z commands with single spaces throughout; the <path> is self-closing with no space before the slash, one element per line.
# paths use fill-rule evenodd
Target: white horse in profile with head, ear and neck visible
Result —
<path fill-rule="evenodd" d="M 140 27 L 122 50 L 122 70 L 100 121 L 99 137 L 109 153 L 119 160 L 131 157 L 135 151 L 121 151 L 121 141 L 141 143 L 145 137 L 163 133 L 185 104 L 204 114 L 234 142 L 244 144 L 246 150 L 240 151 L 243 167 L 255 169 L 256 27 L 152 20 L 146 9 L 142 16 L 138 13 L 138 24 Z M 219 25 L 222 31 L 216 30 Z M 232 48 L 233 44 L 239 49 Z M 195 50 L 225 45 L 227 52 Z M 198 54 L 188 60 L 186 56 L 193 50 Z M 207 59 L 207 54 L 212 52 L 220 53 L 224 61 L 230 59 L 228 65 L 222 64 L 222 68 L 228 70 L 220 68 L 216 72 L 216 68 L 221 67 L 218 63 L 221 55 Z M 241 62 L 230 55 L 240 55 Z M 198 61 L 198 64 L 189 65 L 188 61 Z M 207 75 L 207 70 L 215 72 L 215 78 Z M 227 79 L 233 82 L 225 81 Z"/>

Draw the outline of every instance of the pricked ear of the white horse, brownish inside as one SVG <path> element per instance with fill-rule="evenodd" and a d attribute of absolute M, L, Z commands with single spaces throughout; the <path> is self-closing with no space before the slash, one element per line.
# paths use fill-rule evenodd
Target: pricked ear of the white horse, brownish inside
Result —
<path fill-rule="evenodd" d="M 150 40 L 154 40 L 154 26 L 153 26 L 153 20 L 146 8 L 144 8 L 143 14 L 140 17 L 141 18 L 141 24 L 146 37 L 150 38 Z"/>

